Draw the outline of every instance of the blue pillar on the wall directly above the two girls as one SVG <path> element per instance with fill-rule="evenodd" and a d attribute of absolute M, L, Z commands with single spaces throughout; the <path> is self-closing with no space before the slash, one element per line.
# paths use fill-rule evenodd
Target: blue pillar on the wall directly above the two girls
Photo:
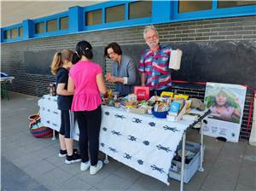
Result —
<path fill-rule="evenodd" d="M 79 6 L 68 9 L 68 30 L 69 32 L 80 32 L 83 30 L 83 8 Z"/>

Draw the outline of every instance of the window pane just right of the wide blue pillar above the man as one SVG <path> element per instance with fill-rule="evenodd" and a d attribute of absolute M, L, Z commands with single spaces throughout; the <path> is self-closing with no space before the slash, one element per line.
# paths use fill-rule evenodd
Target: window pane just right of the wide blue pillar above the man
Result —
<path fill-rule="evenodd" d="M 212 9 L 212 1 L 178 1 L 178 13 Z"/>

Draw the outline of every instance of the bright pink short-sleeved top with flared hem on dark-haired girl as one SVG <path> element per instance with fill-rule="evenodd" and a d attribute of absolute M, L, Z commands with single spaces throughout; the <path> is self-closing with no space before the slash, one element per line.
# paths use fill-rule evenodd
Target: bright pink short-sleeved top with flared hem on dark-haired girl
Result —
<path fill-rule="evenodd" d="M 72 111 L 92 111 L 102 104 L 96 84 L 96 75 L 101 72 L 102 67 L 93 61 L 79 61 L 70 69 L 69 76 L 75 86 Z"/>

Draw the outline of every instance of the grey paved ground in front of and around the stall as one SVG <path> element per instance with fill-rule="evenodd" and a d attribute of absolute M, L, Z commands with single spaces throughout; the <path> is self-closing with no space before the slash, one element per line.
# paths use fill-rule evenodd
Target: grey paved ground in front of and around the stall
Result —
<path fill-rule="evenodd" d="M 39 98 L 9 96 L 1 106 L 1 190 L 179 190 L 173 179 L 166 186 L 111 158 L 95 176 L 80 171 L 78 163 L 64 164 L 58 140 L 37 139 L 29 132 L 27 117 L 38 112 Z M 188 140 L 199 137 L 197 130 L 189 130 Z M 256 190 L 256 148 L 246 140 L 219 142 L 205 136 L 204 168 L 184 190 Z"/>

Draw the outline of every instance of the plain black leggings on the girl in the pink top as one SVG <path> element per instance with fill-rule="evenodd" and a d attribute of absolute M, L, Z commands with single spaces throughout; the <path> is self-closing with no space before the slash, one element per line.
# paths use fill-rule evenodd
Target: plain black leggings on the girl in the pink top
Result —
<path fill-rule="evenodd" d="M 93 111 L 75 112 L 79 124 L 79 148 L 82 162 L 89 160 L 88 143 L 90 150 L 90 165 L 97 165 L 99 152 L 99 136 L 102 123 L 102 107 Z"/>

